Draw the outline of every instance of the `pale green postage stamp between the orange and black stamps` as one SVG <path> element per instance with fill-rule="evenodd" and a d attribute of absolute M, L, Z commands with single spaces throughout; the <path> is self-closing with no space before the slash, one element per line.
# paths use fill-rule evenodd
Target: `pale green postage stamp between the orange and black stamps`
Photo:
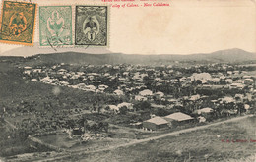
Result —
<path fill-rule="evenodd" d="M 49 47 L 73 44 L 71 6 L 39 7 L 39 41 Z"/>

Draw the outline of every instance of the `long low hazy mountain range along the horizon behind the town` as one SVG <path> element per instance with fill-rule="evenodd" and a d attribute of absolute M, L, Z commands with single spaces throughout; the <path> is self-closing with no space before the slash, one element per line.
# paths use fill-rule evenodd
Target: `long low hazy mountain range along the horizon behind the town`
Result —
<path fill-rule="evenodd" d="M 89 54 L 80 52 L 61 52 L 37 54 L 27 59 L 31 64 L 67 63 L 67 64 L 168 64 L 173 62 L 223 63 L 256 60 L 256 54 L 241 49 L 220 50 L 213 53 L 190 55 L 131 55 L 121 53 Z"/>

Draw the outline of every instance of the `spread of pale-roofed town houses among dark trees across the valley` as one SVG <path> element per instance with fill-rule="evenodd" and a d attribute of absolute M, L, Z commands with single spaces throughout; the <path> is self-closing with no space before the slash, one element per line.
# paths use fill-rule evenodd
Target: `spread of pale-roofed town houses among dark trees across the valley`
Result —
<path fill-rule="evenodd" d="M 153 109 L 176 110 L 141 121 L 141 127 L 149 130 L 171 126 L 173 122 L 169 121 L 206 122 L 249 113 L 255 107 L 255 77 L 250 75 L 253 68 L 242 65 L 78 67 L 62 63 L 23 70 L 26 80 L 126 98 L 116 104 L 101 103 L 101 113 L 118 115 L 144 110 L 135 106 L 139 102 L 148 102 Z"/>

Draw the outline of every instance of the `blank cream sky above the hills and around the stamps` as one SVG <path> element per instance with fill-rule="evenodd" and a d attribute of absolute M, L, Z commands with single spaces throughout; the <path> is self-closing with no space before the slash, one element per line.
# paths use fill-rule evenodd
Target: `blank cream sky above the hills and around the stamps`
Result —
<path fill-rule="evenodd" d="M 32 2 L 39 5 L 89 4 L 89 1 L 81 0 L 70 2 L 32 0 Z M 256 52 L 256 2 L 254 0 L 164 0 L 161 2 L 169 3 L 170 6 L 110 8 L 107 50 L 127 54 L 191 54 L 240 48 Z M 100 0 L 92 0 L 91 3 L 102 4 Z M 119 4 L 123 3 L 119 2 Z M 140 3 L 143 4 L 143 2 Z M 36 25 L 34 40 L 38 42 L 38 25 Z M 15 48 L 21 48 L 21 46 L 0 44 L 0 55 Z M 31 47 L 31 50 L 34 48 L 38 47 Z"/>

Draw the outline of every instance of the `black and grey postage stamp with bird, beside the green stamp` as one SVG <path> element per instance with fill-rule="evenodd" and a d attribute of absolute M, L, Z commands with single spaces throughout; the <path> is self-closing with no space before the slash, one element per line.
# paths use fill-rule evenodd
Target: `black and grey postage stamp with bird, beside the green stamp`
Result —
<path fill-rule="evenodd" d="M 108 45 L 108 7 L 76 6 L 75 45 Z"/>

